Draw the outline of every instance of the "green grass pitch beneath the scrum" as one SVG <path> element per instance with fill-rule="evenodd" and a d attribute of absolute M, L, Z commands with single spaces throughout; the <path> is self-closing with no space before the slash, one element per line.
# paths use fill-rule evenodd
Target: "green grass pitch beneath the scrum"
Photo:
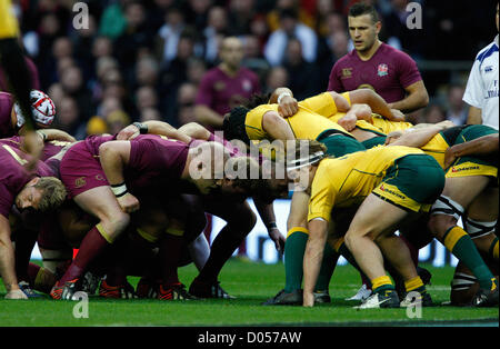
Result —
<path fill-rule="evenodd" d="M 433 268 L 429 292 L 437 305 L 449 300 L 453 268 Z M 188 287 L 197 270 L 180 268 L 181 282 Z M 330 283 L 332 303 L 314 308 L 264 307 L 260 303 L 282 287 L 282 263 L 263 265 L 230 260 L 222 269 L 221 286 L 236 300 L 107 300 L 91 297 L 88 318 L 73 317 L 77 302 L 53 301 L 48 297 L 29 301 L 4 300 L 0 287 L 1 327 L 87 327 L 87 326 L 172 326 L 172 327 L 327 327 L 327 326 L 496 326 L 499 309 L 438 306 L 423 308 L 421 318 L 409 318 L 406 309 L 356 310 L 346 301 L 360 286 L 359 273 L 350 266 L 337 267 Z M 129 278 L 134 286 L 138 278 Z"/>

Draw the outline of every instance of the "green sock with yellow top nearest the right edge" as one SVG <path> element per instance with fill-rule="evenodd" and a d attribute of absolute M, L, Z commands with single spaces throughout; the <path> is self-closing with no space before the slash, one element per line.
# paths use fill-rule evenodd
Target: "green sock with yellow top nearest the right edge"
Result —
<path fill-rule="evenodd" d="M 479 255 L 474 242 L 462 228 L 454 226 L 448 229 L 443 245 L 472 271 L 481 288 L 491 289 L 494 277 Z"/>

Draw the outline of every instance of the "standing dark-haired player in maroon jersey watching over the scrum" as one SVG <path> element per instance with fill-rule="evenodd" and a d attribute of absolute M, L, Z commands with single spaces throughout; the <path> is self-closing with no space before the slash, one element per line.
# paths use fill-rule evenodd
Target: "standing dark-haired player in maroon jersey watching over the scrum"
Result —
<path fill-rule="evenodd" d="M 330 72 L 329 91 L 346 92 L 370 88 L 391 109 L 404 113 L 424 108 L 429 96 L 417 63 L 379 40 L 382 23 L 372 6 L 353 4 L 348 16 L 354 49 L 339 59 Z"/>

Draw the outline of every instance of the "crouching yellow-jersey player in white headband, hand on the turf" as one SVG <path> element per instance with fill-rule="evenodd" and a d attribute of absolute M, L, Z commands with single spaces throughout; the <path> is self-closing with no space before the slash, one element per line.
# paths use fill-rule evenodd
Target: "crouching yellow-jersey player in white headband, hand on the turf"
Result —
<path fill-rule="evenodd" d="M 300 153 L 304 151 L 309 157 L 301 159 Z M 360 308 L 400 306 L 394 286 L 386 275 L 383 257 L 403 278 L 407 292 L 419 292 L 418 301 L 430 305 L 430 295 L 407 246 L 393 232 L 400 222 L 426 211 L 439 197 L 444 173 L 436 160 L 408 147 L 377 147 L 328 158 L 324 148 L 317 142 L 298 142 L 296 154 L 298 160 L 288 163 L 287 170 L 311 192 L 309 240 L 303 260 L 303 306 L 313 306 L 312 291 L 334 209 L 358 205 L 344 239 L 356 262 L 372 282 L 373 295 Z"/>

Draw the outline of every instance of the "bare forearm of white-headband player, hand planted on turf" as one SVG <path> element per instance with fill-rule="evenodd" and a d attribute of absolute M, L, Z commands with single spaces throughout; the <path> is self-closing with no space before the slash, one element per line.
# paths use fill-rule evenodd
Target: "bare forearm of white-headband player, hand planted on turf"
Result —
<path fill-rule="evenodd" d="M 314 287 L 321 268 L 324 243 L 327 243 L 326 220 L 313 219 L 308 223 L 309 239 L 303 256 L 303 306 L 314 305 Z"/>

